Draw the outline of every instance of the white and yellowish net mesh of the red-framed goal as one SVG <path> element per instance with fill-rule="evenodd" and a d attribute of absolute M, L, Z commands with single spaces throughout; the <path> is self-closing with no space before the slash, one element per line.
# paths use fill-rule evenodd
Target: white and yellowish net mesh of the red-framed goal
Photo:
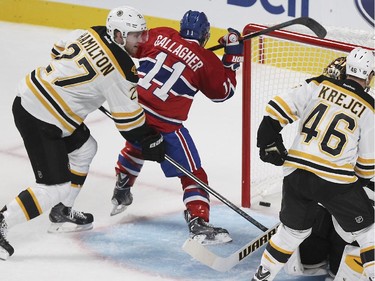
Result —
<path fill-rule="evenodd" d="M 302 28 L 306 31 L 305 27 Z M 373 34 L 366 32 L 352 33 L 348 30 L 338 32 L 338 30 L 333 29 L 332 31 L 329 30 L 328 34 L 335 41 L 373 47 Z M 273 96 L 298 85 L 303 80 L 322 74 L 323 69 L 332 60 L 339 56 L 346 56 L 353 48 L 350 44 L 343 44 L 342 46 L 338 44 L 338 47 L 334 47 L 338 42 L 330 42 L 330 40 L 323 40 L 320 43 L 315 42 L 321 46 L 314 46 L 315 43 L 312 44 L 310 39 L 307 42 L 304 38 L 299 38 L 298 40 L 301 42 L 296 42 L 294 40 L 297 39 L 289 37 L 288 39 L 273 36 L 256 37 L 251 39 L 250 53 L 245 53 L 245 60 L 251 61 L 249 66 L 251 70 L 243 68 L 245 72 L 244 80 L 251 79 L 249 93 L 244 92 L 245 95 L 251 96 L 250 126 L 252 129 L 251 131 L 249 129 L 251 204 L 262 200 L 265 195 L 281 191 L 282 168 L 263 163 L 259 159 L 259 150 L 256 147 L 256 130 L 263 118 L 267 102 Z M 244 82 L 243 85 L 246 85 L 247 83 Z M 282 131 L 284 144 L 287 148 L 292 143 L 297 126 L 298 122 L 295 122 Z M 247 187 L 243 186 L 243 191 L 244 188 Z M 243 196 L 248 196 L 247 192 L 243 194 Z"/>

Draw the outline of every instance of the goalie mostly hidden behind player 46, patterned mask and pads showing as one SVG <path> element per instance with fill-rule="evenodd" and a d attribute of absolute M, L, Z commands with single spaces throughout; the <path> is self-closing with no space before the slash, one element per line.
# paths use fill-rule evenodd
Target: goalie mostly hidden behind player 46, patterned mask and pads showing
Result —
<path fill-rule="evenodd" d="M 338 57 L 324 69 L 323 75 L 343 80 L 346 78 L 345 66 L 346 57 Z M 374 180 L 364 187 L 373 206 Z M 311 235 L 293 252 L 284 269 L 296 276 L 326 275 L 325 281 L 361 280 L 360 248 L 354 240 L 355 236 L 344 232 L 337 221 L 332 220 L 331 214 L 319 206 Z"/>

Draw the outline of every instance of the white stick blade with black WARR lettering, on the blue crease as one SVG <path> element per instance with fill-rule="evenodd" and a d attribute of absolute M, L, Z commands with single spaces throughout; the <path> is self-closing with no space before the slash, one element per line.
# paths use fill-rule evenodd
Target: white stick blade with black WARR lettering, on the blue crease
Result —
<path fill-rule="evenodd" d="M 228 257 L 221 257 L 211 252 L 207 247 L 203 246 L 198 241 L 189 238 L 185 241 L 182 249 L 197 261 L 215 269 L 216 271 L 225 272 L 230 270 L 235 265 L 239 264 L 244 258 L 250 256 L 263 245 L 267 244 L 271 237 L 276 233 L 280 223 L 275 224 L 266 232 L 259 235 L 254 240 L 250 241 L 235 253 Z"/>

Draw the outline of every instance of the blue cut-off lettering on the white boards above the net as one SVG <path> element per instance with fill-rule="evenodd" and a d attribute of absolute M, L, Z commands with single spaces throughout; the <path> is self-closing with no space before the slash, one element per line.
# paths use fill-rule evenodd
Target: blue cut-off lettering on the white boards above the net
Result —
<path fill-rule="evenodd" d="M 288 16 L 295 17 L 297 14 L 296 2 L 301 2 L 301 16 L 309 16 L 309 0 L 284 0 L 285 5 L 273 5 L 271 2 L 280 2 L 275 0 L 227 0 L 229 5 L 236 5 L 241 7 L 251 7 L 257 1 L 260 1 L 262 7 L 270 14 L 280 15 L 287 11 Z"/>

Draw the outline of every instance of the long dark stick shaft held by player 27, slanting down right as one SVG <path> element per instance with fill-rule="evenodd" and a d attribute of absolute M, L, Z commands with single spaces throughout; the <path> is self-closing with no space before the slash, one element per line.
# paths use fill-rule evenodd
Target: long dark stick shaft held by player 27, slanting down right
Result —
<path fill-rule="evenodd" d="M 114 119 L 112 114 L 103 106 L 99 107 L 99 110 L 103 112 L 105 115 L 107 115 L 112 120 Z M 220 193 L 213 190 L 211 187 L 209 187 L 206 183 L 201 181 L 199 178 L 197 178 L 195 175 L 190 173 L 188 170 L 186 170 L 182 165 L 177 163 L 175 160 L 173 160 L 170 156 L 165 155 L 165 160 L 167 160 L 169 163 L 171 163 L 173 166 L 175 166 L 178 170 L 180 170 L 182 173 L 184 173 L 186 176 L 191 178 L 193 181 L 195 181 L 197 184 L 199 184 L 205 191 L 215 196 L 217 199 L 219 199 L 221 202 L 223 202 L 225 205 L 230 207 L 232 210 L 236 211 L 239 215 L 247 219 L 249 222 L 251 222 L 253 225 L 258 227 L 262 231 L 267 231 L 267 227 L 262 225 L 260 222 L 256 221 L 254 218 L 252 218 L 249 214 L 242 211 L 240 208 L 238 208 L 236 205 L 234 205 L 232 202 L 230 202 L 228 199 L 226 199 L 224 196 L 222 196 Z"/>

